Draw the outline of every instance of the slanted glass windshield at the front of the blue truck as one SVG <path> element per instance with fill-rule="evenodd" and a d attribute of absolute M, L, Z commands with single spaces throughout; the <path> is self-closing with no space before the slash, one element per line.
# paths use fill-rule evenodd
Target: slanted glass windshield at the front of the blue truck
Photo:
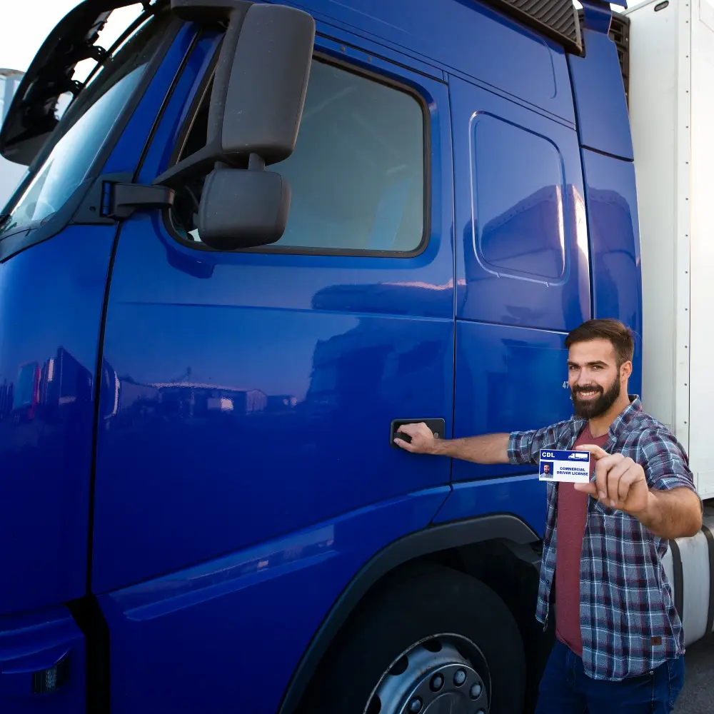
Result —
<path fill-rule="evenodd" d="M 0 240 L 16 228 L 46 221 L 84 181 L 169 21 L 168 12 L 147 13 L 69 106 L 20 191 L 2 211 Z"/>

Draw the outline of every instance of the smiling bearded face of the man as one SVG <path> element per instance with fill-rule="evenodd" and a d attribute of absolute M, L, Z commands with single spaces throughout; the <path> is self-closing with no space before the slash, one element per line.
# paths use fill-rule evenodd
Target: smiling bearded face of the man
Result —
<path fill-rule="evenodd" d="M 602 416 L 620 396 L 630 363 L 618 368 L 615 348 L 608 340 L 578 342 L 568 352 L 568 384 L 575 414 L 580 418 Z"/>

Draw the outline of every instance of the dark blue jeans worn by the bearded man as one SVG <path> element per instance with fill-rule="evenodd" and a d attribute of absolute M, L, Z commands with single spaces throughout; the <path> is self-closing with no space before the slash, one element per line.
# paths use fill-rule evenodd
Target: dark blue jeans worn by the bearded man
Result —
<path fill-rule="evenodd" d="M 684 685 L 684 658 L 621 682 L 594 680 L 583 660 L 555 640 L 540 680 L 535 714 L 669 714 Z"/>

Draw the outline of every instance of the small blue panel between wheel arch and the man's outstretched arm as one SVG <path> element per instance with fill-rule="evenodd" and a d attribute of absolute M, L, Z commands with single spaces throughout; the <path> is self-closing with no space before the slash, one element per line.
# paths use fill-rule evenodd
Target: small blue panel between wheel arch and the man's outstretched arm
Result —
<path fill-rule="evenodd" d="M 433 522 L 450 523 L 474 516 L 509 513 L 528 523 L 542 538 L 546 505 L 545 484 L 538 481 L 537 474 L 466 481 L 453 485 Z"/>

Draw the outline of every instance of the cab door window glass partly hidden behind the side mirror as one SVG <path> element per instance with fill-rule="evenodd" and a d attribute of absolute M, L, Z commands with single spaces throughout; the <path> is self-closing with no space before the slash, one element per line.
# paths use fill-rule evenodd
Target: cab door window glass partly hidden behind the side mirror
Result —
<path fill-rule="evenodd" d="M 179 159 L 206 143 L 208 98 Z M 315 59 L 296 150 L 268 167 L 291 184 L 283 237 L 268 249 L 411 252 L 425 238 L 425 112 L 412 94 Z M 174 227 L 200 241 L 202 181 L 178 191 Z M 428 235 L 428 233 L 427 233 Z"/>

